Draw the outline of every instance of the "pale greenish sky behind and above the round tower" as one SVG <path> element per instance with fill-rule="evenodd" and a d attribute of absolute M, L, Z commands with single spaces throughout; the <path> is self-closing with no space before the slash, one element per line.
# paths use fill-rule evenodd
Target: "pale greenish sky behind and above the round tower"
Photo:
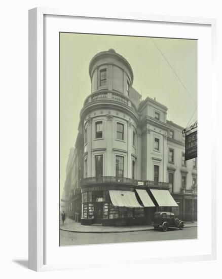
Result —
<path fill-rule="evenodd" d="M 125 57 L 133 69 L 133 87 L 142 99 L 156 97 L 168 108 L 168 120 L 187 126 L 197 103 L 197 41 L 153 40 L 189 93 L 151 38 L 60 33 L 60 190 L 69 149 L 76 142 L 80 111 L 91 93 L 89 63 L 98 52 L 113 48 Z M 197 111 L 192 119 L 196 118 Z"/>

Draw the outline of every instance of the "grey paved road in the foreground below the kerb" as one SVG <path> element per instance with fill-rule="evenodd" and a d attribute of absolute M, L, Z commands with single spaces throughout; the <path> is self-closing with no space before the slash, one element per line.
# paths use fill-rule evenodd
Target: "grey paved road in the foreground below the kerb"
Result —
<path fill-rule="evenodd" d="M 197 238 L 197 227 L 183 230 L 170 229 L 167 232 L 149 230 L 121 233 L 76 233 L 60 230 L 61 246 L 193 238 Z"/>

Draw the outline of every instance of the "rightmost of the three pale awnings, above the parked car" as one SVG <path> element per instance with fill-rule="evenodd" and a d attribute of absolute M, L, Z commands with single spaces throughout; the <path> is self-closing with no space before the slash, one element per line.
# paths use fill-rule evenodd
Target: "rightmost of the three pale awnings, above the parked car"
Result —
<path fill-rule="evenodd" d="M 159 206 L 178 206 L 168 190 L 151 189 Z"/>

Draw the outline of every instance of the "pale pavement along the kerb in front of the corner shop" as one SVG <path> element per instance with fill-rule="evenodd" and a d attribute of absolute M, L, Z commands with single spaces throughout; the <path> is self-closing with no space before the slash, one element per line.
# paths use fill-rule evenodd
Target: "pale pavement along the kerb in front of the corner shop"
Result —
<path fill-rule="evenodd" d="M 197 222 L 186 222 L 184 228 L 197 227 Z M 60 230 L 69 232 L 83 232 L 83 233 L 115 233 L 115 232 L 133 232 L 133 231 L 147 231 L 153 230 L 151 225 L 135 225 L 127 227 L 105 227 L 101 225 L 85 226 L 77 223 L 71 219 L 65 219 L 64 225 L 60 223 Z"/>

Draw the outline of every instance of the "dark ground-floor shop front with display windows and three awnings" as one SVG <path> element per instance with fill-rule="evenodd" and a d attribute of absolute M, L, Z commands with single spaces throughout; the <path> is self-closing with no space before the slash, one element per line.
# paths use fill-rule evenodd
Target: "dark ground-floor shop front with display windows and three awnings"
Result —
<path fill-rule="evenodd" d="M 178 206 L 168 190 L 116 189 L 108 190 L 105 186 L 83 189 L 81 224 L 103 226 L 151 224 L 157 208 Z"/>

